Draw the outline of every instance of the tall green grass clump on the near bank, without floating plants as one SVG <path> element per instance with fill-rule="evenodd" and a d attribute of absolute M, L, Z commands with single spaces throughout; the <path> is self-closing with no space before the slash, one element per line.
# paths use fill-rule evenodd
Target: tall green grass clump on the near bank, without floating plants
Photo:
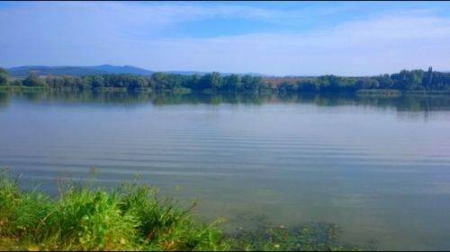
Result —
<path fill-rule="evenodd" d="M 23 192 L 18 179 L 0 177 L 0 240 L 44 250 L 224 250 L 216 223 L 193 221 L 193 206 L 157 196 L 157 189 L 124 183 L 112 192 L 61 184 L 50 199 Z M 0 248 L 2 246 L 0 245 Z"/>

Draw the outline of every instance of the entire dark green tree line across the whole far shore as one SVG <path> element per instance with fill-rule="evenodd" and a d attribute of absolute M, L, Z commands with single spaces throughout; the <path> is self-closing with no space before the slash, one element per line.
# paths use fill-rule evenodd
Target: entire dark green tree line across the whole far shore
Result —
<path fill-rule="evenodd" d="M 63 91 L 87 91 L 103 88 L 121 88 L 128 91 L 151 89 L 153 91 L 228 91 L 228 92 L 302 92 L 302 91 L 450 91 L 450 73 L 431 69 L 402 70 L 399 74 L 381 74 L 371 77 L 343 77 L 322 75 L 309 78 L 293 78 L 293 81 L 271 83 L 265 78 L 220 73 L 211 74 L 166 74 L 150 76 L 133 74 L 99 74 L 84 76 L 38 76 L 31 72 L 26 79 L 8 81 L 7 72 L 0 68 L 0 86 L 48 87 Z"/>

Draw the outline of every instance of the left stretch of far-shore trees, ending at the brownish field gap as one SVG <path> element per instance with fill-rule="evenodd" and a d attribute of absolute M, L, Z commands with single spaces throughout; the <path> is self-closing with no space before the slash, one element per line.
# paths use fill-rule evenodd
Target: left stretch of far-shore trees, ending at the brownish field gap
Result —
<path fill-rule="evenodd" d="M 6 85 L 6 83 L 3 83 Z M 99 74 L 84 76 L 38 76 L 31 72 L 24 80 L 16 79 L 8 85 L 28 87 L 49 87 L 55 90 L 85 91 L 98 88 L 123 88 L 129 91 L 151 89 L 156 91 L 189 89 L 192 91 L 252 91 L 268 88 L 261 77 L 231 74 L 221 76 L 211 74 L 166 74 L 155 73 L 151 76 L 133 74 Z"/>

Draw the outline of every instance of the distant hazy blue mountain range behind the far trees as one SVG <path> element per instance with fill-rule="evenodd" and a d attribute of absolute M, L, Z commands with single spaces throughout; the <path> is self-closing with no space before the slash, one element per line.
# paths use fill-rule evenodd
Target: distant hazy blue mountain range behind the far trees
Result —
<path fill-rule="evenodd" d="M 7 68 L 6 71 L 11 77 L 25 77 L 31 71 L 38 75 L 94 75 L 94 74 L 136 74 L 136 75 L 151 75 L 155 71 L 139 68 L 132 65 L 94 65 L 94 66 L 47 66 L 47 65 L 23 65 L 18 67 Z M 195 71 L 166 71 L 167 74 L 208 74 L 207 72 Z M 222 75 L 229 75 L 229 73 L 221 73 Z M 245 74 L 239 74 L 245 75 Z M 248 73 L 252 76 L 269 76 L 266 74 Z"/>

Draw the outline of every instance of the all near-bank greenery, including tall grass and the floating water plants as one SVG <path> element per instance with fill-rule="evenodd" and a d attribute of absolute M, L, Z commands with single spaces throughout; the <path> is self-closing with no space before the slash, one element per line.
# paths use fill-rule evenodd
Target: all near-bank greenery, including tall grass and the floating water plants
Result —
<path fill-rule="evenodd" d="M 188 207 L 157 188 L 124 182 L 106 190 L 93 182 L 58 182 L 58 196 L 24 191 L 0 175 L 0 250 L 359 250 L 338 244 L 328 223 L 295 229 L 261 227 L 226 235 L 218 222 L 193 219 Z"/>

